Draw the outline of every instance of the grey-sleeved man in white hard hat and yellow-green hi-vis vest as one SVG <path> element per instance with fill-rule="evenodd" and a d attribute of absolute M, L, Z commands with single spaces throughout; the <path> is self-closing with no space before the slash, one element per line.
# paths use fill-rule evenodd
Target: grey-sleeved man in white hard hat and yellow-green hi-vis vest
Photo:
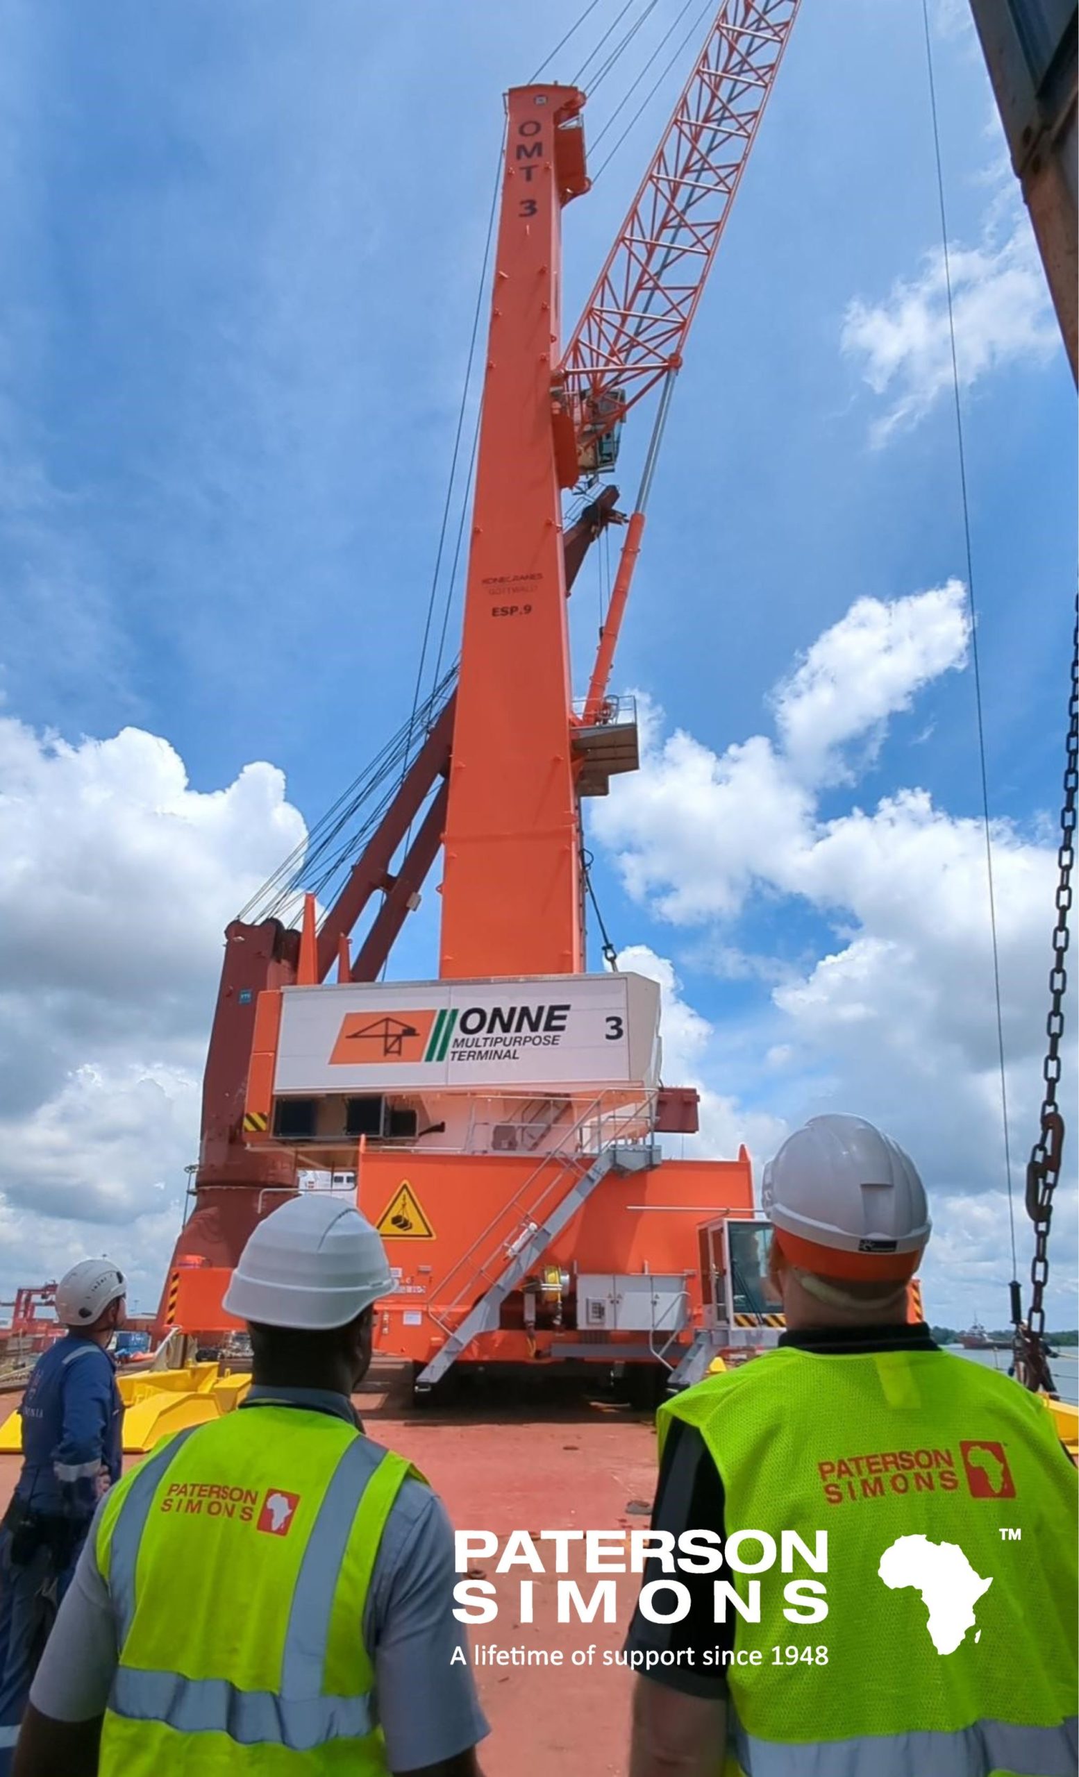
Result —
<path fill-rule="evenodd" d="M 247 1398 L 101 1503 L 16 1777 L 478 1777 L 450 1521 L 350 1402 L 391 1288 L 340 1198 L 258 1224 L 224 1301 L 251 1329 Z"/>

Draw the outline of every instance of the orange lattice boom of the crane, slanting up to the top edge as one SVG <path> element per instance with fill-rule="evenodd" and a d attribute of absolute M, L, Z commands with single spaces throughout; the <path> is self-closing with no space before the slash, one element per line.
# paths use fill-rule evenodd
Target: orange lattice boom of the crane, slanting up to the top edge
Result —
<path fill-rule="evenodd" d="M 563 487 L 677 370 L 800 0 L 723 0 L 565 348 L 555 430 Z"/>

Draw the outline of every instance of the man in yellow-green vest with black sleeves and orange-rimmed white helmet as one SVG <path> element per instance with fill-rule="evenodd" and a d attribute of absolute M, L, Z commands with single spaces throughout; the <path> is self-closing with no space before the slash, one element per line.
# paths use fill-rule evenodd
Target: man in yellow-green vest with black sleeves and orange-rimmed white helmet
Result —
<path fill-rule="evenodd" d="M 659 1409 L 652 1530 L 697 1535 L 645 1567 L 633 1777 L 1075 1777 L 1052 1416 L 905 1324 L 926 1196 L 871 1123 L 814 1118 L 763 1205 L 779 1349 Z"/>

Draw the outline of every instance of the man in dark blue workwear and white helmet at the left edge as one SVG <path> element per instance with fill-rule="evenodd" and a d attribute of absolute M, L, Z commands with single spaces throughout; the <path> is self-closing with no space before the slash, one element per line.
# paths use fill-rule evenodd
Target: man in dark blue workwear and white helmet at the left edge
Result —
<path fill-rule="evenodd" d="M 0 1777 L 7 1777 L 30 1679 L 94 1509 L 119 1480 L 123 1406 L 107 1345 L 124 1279 L 85 1258 L 57 1285 L 68 1336 L 41 1356 L 23 1395 L 23 1471 L 0 1525 Z"/>

